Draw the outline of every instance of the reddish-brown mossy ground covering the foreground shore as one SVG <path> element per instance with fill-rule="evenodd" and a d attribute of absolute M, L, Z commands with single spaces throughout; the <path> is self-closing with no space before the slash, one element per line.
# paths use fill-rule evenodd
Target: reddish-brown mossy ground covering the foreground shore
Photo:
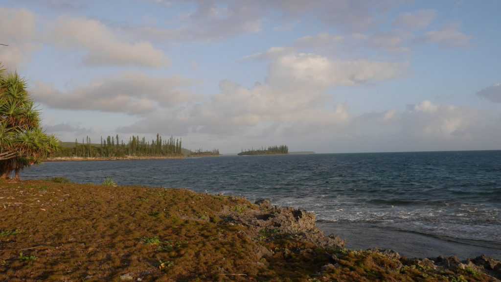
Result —
<path fill-rule="evenodd" d="M 143 281 L 492 279 L 319 248 L 270 230 L 253 237 L 251 226 L 224 220 L 223 213 L 253 209 L 259 207 L 242 198 L 185 189 L 4 181 L 0 280 L 120 281 L 126 273 Z M 263 248 L 268 255 L 258 251 Z"/>

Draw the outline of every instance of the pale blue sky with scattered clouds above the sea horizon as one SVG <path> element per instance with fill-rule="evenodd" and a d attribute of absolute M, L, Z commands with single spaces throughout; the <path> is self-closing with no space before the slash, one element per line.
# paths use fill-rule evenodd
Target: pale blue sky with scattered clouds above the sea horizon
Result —
<path fill-rule="evenodd" d="M 61 140 L 501 150 L 501 0 L 3 0 L 0 62 Z"/>

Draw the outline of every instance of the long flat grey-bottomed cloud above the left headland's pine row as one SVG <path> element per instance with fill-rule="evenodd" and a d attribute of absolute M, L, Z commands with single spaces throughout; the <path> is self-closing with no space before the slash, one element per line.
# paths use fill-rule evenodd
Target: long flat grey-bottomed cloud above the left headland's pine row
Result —
<path fill-rule="evenodd" d="M 122 72 L 67 92 L 51 83 L 36 82 L 32 95 L 52 108 L 146 114 L 159 106 L 170 107 L 194 99 L 196 95 L 179 90 L 193 83 L 179 76 L 151 77 L 140 72 Z"/>

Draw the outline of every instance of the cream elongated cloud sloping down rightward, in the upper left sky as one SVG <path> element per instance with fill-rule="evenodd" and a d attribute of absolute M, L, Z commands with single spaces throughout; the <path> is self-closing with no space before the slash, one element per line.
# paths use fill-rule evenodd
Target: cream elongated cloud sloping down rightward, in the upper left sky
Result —
<path fill-rule="evenodd" d="M 85 50 L 88 65 L 132 65 L 163 67 L 169 60 L 150 42 L 122 40 L 103 23 L 88 18 L 59 17 L 54 23 L 51 41 L 62 47 Z"/>

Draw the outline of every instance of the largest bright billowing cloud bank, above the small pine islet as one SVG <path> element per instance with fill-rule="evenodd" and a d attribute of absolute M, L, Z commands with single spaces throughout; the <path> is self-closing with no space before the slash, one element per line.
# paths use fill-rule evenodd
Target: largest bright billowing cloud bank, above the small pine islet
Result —
<path fill-rule="evenodd" d="M 238 132 L 320 130 L 342 127 L 351 119 L 346 103 L 334 103 L 326 93 L 339 85 L 363 85 L 398 77 L 407 63 L 332 61 L 316 54 L 294 54 L 270 63 L 264 83 L 246 88 L 223 80 L 208 101 L 155 113 L 121 132 L 158 131 L 163 118 L 173 118 L 176 132 L 232 135 Z"/>

